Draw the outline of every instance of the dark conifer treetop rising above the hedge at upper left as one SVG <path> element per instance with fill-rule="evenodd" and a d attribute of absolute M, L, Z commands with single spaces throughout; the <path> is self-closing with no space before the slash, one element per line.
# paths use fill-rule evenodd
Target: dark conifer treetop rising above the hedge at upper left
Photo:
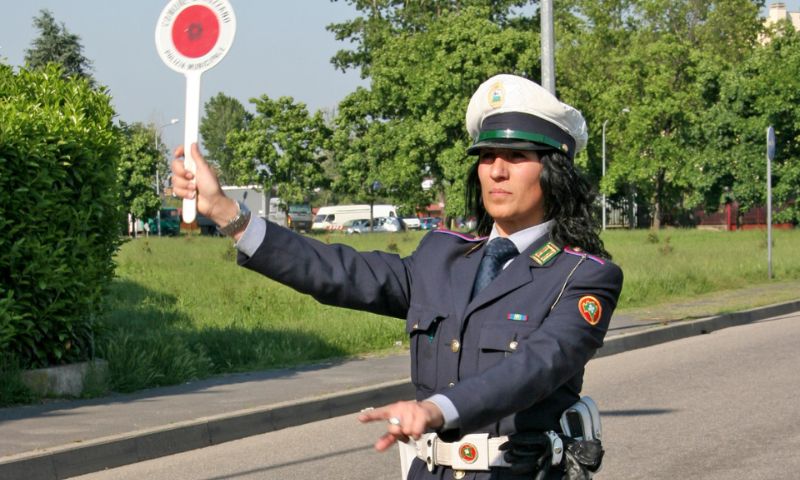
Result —
<path fill-rule="evenodd" d="M 34 17 L 33 26 L 39 31 L 39 36 L 25 51 L 28 68 L 38 69 L 48 63 L 57 63 L 63 67 L 65 76 L 85 77 L 94 84 L 90 73 L 92 62 L 83 55 L 78 35 L 70 33 L 63 22 L 59 25 L 49 10 L 41 10 L 39 16 Z"/>

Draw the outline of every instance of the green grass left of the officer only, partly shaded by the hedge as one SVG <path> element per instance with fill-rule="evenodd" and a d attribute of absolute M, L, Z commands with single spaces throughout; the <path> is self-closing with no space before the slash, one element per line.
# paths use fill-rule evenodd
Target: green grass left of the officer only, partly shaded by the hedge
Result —
<path fill-rule="evenodd" d="M 318 238 L 407 255 L 421 234 Z M 151 237 L 122 247 L 99 342 L 112 389 L 376 353 L 405 341 L 397 319 L 321 305 L 235 257 L 222 238 Z"/>

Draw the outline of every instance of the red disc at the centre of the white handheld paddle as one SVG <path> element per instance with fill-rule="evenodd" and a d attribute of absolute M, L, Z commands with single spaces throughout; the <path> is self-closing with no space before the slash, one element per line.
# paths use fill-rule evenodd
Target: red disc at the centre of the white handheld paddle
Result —
<path fill-rule="evenodd" d="M 218 39 L 219 20 L 213 10 L 203 5 L 187 7 L 172 24 L 172 43 L 189 58 L 208 54 Z"/>

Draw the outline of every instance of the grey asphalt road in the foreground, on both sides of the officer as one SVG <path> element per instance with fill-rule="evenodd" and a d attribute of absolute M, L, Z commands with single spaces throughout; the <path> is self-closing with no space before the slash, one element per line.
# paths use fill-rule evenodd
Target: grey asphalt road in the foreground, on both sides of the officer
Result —
<path fill-rule="evenodd" d="M 798 478 L 799 344 L 794 314 L 592 361 L 595 478 Z M 77 478 L 397 480 L 397 452 L 371 448 L 382 428 L 344 416 Z"/>

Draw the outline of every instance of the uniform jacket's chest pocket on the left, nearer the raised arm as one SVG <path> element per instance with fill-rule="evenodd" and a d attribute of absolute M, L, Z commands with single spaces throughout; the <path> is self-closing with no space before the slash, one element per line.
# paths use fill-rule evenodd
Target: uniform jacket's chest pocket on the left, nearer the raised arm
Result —
<path fill-rule="evenodd" d="M 447 314 L 418 305 L 412 305 L 408 311 L 406 332 L 411 344 L 411 381 L 423 390 L 436 389 L 440 342 L 437 333 L 445 318 Z"/>

